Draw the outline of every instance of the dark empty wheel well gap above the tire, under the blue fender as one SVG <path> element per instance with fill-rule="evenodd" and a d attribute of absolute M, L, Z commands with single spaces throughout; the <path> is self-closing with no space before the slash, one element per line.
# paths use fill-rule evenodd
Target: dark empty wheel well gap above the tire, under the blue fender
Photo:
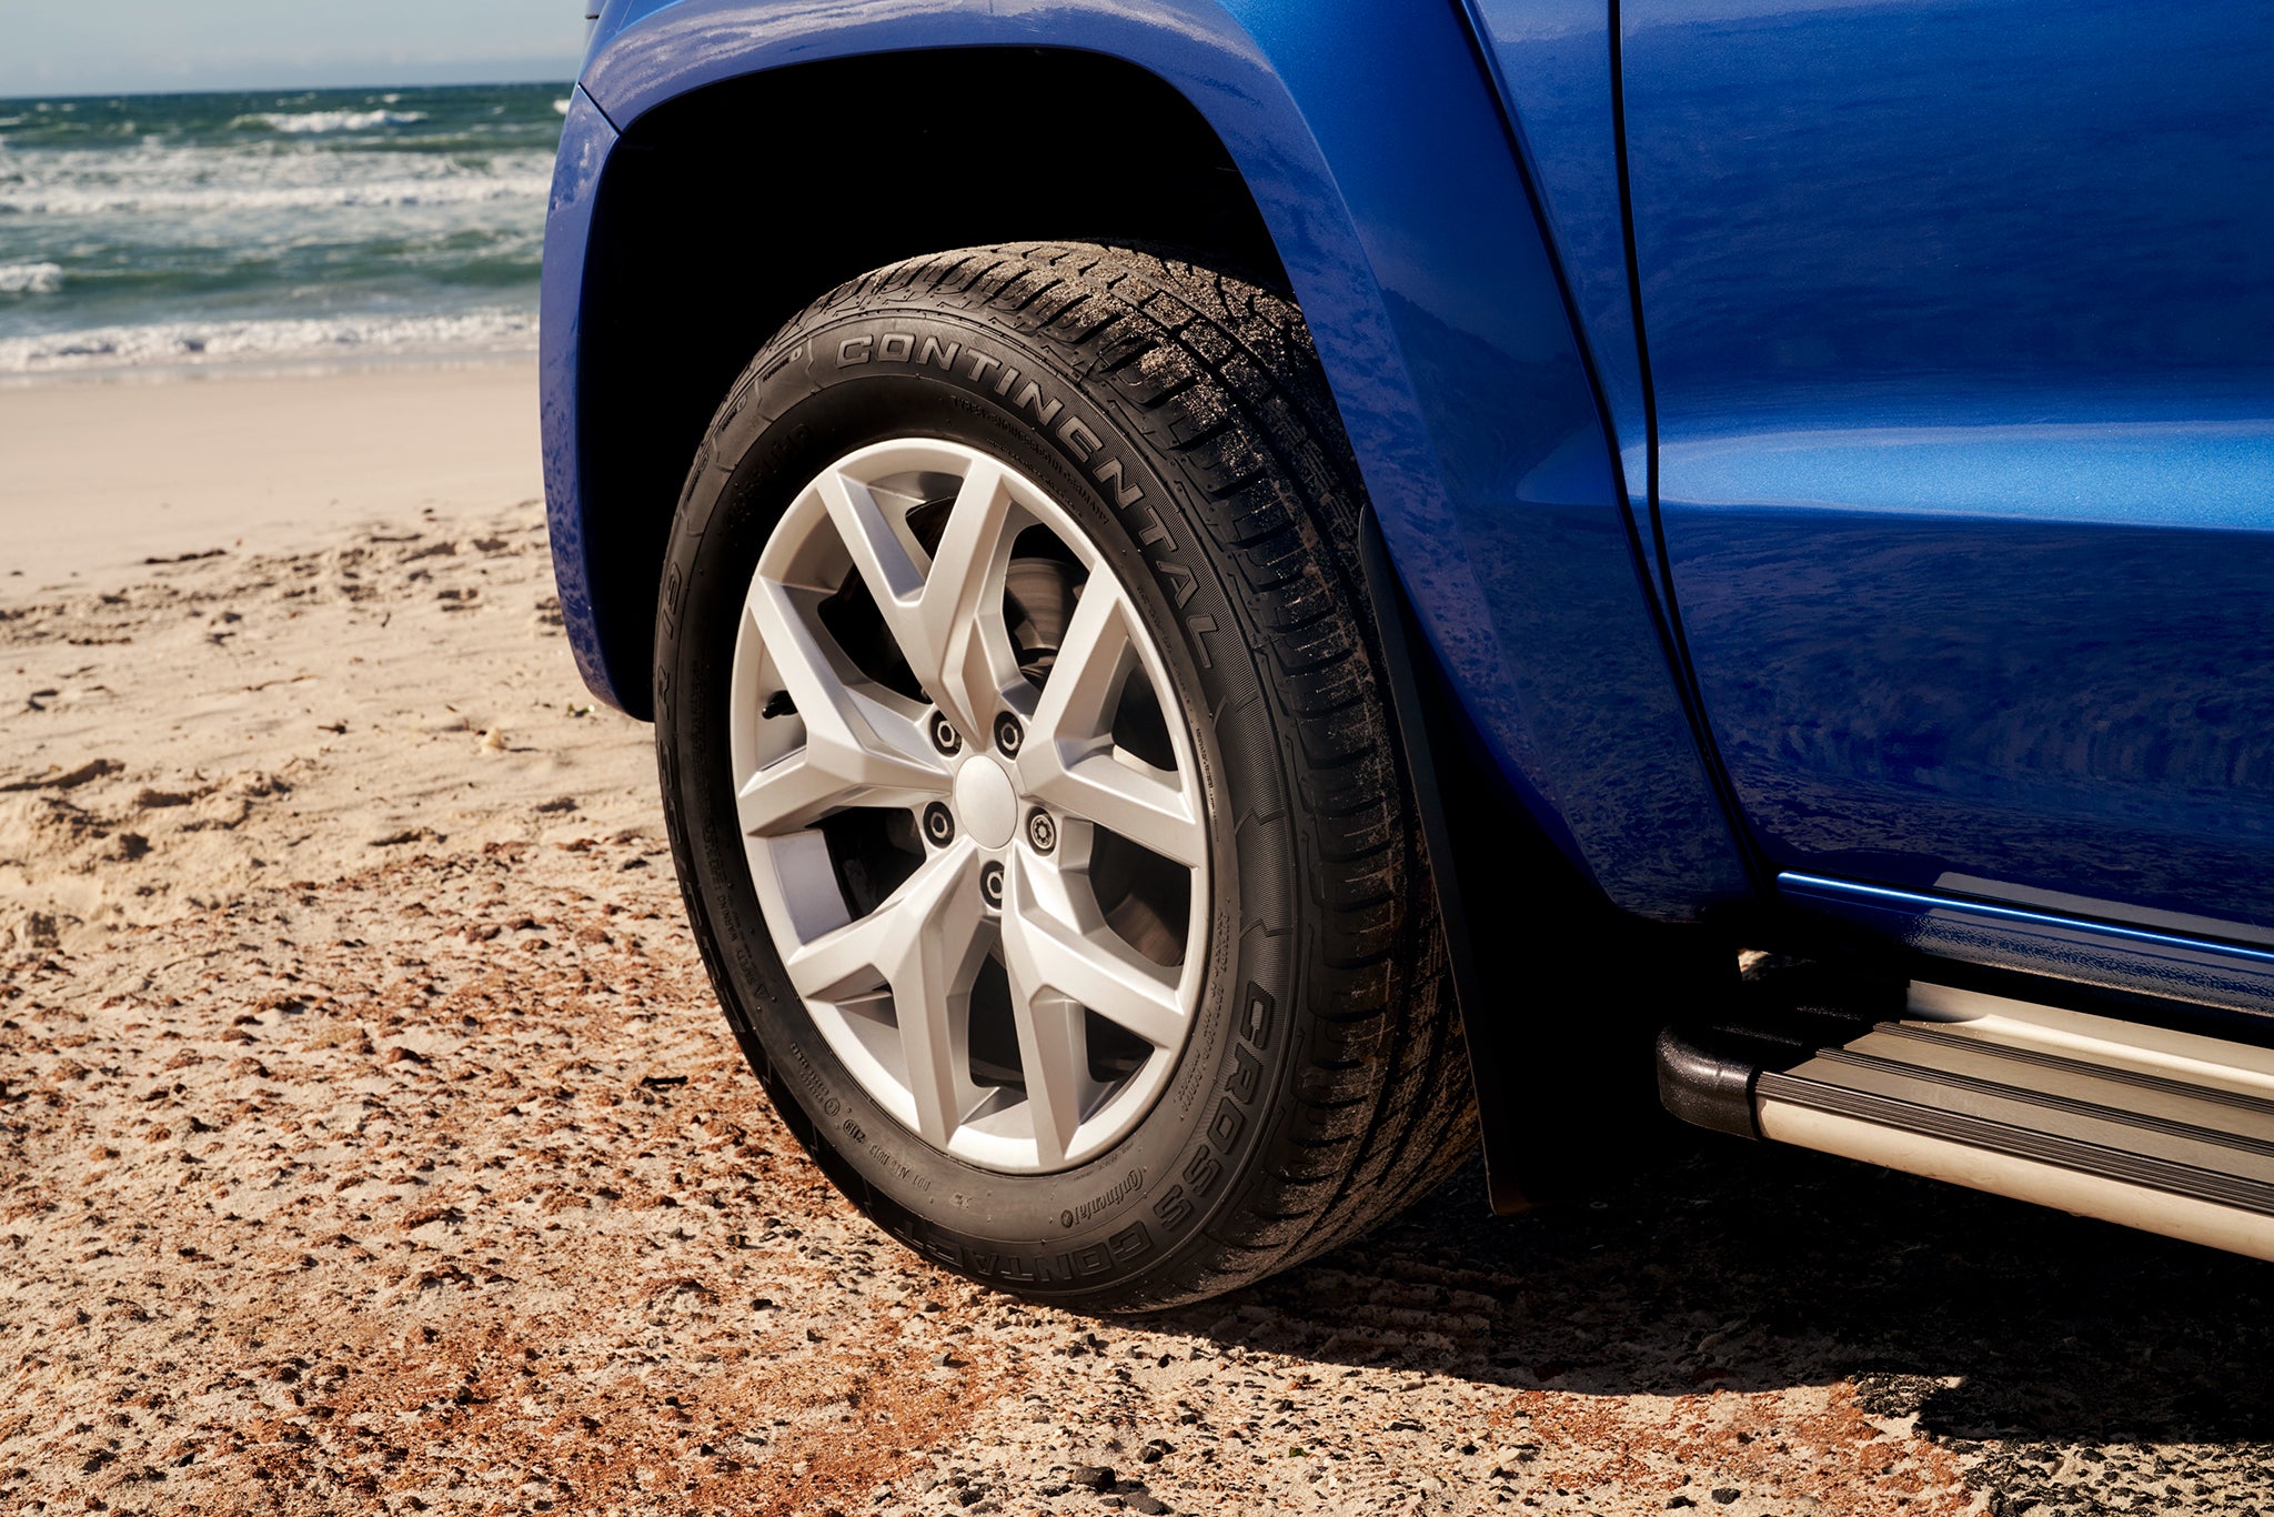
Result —
<path fill-rule="evenodd" d="M 623 132 L 584 264 L 578 455 L 594 621 L 634 716 L 650 714 L 687 466 L 766 337 L 894 259 L 1028 239 L 1151 243 L 1287 284 L 1207 121 L 1096 52 L 798 64 L 691 91 Z"/>

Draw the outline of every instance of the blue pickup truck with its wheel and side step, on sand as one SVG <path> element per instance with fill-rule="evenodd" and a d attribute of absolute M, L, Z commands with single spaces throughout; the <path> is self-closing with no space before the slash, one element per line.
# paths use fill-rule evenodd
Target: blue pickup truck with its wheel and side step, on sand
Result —
<path fill-rule="evenodd" d="M 609 0 L 562 610 L 878 1224 L 1094 1310 L 1665 1112 L 2274 1258 L 2258 0 Z"/>

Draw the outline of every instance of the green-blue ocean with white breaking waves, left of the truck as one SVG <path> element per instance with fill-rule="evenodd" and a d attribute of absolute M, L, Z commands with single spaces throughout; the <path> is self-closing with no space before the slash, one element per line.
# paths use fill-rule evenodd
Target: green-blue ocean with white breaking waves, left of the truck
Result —
<path fill-rule="evenodd" d="M 0 100 L 0 380 L 528 350 L 566 84 Z"/>

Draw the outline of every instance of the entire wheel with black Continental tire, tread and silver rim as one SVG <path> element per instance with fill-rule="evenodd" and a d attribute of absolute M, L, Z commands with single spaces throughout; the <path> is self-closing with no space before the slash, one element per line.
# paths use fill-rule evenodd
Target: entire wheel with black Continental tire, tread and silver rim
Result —
<path fill-rule="evenodd" d="M 1474 1146 L 1362 500 L 1294 305 L 1128 248 L 880 268 L 712 421 L 657 612 L 671 846 L 773 1103 L 916 1251 L 1162 1308 L 1355 1237 Z M 966 544 L 1007 578 L 944 569 Z M 935 571 L 964 600 L 923 610 Z M 1023 751 L 989 698 L 1041 723 Z M 1067 796 L 1092 810 L 1039 853 Z"/>

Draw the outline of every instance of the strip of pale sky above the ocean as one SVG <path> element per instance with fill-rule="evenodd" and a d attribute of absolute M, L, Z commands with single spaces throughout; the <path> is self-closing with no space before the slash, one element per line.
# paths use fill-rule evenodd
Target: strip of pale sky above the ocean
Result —
<path fill-rule="evenodd" d="M 0 0 L 0 98 L 568 80 L 584 11 L 584 0 Z"/>

